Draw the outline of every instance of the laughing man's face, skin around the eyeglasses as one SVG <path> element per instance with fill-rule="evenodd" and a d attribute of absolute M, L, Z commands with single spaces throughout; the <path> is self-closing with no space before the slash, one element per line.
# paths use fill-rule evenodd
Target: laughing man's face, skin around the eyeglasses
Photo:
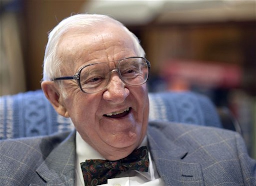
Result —
<path fill-rule="evenodd" d="M 74 75 L 82 66 L 138 56 L 131 38 L 119 26 L 108 24 L 90 32 L 72 30 L 61 39 L 58 57 L 64 61 L 63 76 Z M 117 63 L 108 63 L 110 69 Z M 116 72 L 106 89 L 83 93 L 77 83 L 65 80 L 67 97 L 62 104 L 82 138 L 109 160 L 129 155 L 140 145 L 147 132 L 148 92 L 146 84 L 125 85 Z M 111 115 L 118 112 L 118 115 Z"/>

